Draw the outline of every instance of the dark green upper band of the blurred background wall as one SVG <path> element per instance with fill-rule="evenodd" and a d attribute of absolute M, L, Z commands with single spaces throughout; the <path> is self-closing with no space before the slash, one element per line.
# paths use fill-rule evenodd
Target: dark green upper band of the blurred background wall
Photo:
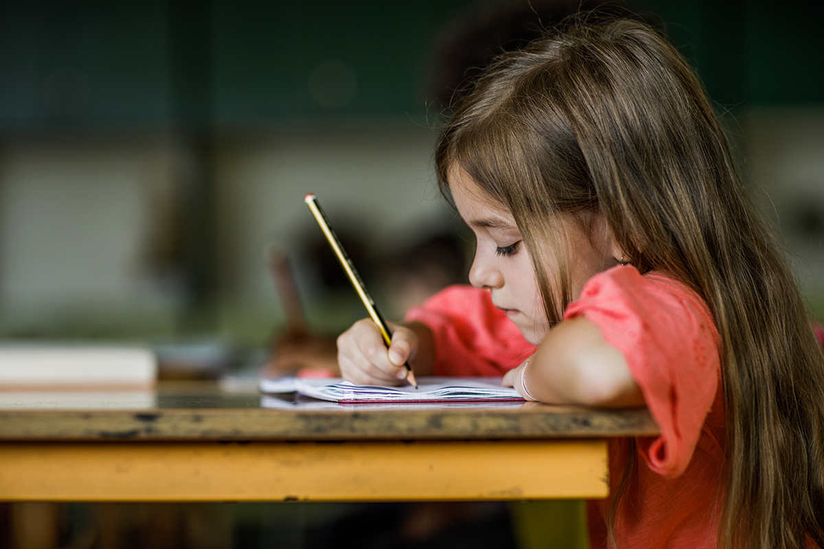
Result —
<path fill-rule="evenodd" d="M 433 40 L 478 3 L 7 0 L 0 131 L 421 117 Z M 824 102 L 822 2 L 645 3 L 720 104 Z M 348 100 L 319 103 L 312 78 Z"/>

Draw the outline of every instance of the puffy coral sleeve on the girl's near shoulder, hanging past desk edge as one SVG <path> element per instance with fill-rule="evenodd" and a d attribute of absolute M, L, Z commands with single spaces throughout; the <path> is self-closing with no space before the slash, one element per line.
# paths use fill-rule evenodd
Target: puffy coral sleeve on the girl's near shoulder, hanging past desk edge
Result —
<path fill-rule="evenodd" d="M 719 334 L 705 302 L 681 282 L 618 266 L 592 277 L 564 319 L 583 315 L 623 353 L 661 430 L 639 448 L 653 471 L 684 472 L 719 386 Z"/>

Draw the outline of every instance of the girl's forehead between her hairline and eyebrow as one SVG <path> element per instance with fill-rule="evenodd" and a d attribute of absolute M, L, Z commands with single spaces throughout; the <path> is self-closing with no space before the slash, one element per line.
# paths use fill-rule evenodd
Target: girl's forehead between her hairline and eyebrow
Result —
<path fill-rule="evenodd" d="M 449 170 L 449 190 L 461 218 L 471 227 L 515 229 L 511 213 L 460 168 Z"/>

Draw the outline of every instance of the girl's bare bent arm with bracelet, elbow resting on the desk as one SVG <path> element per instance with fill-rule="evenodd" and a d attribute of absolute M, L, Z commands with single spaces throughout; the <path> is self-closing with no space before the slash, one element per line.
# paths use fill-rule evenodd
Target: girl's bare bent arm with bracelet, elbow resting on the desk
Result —
<path fill-rule="evenodd" d="M 583 316 L 552 328 L 536 353 L 504 376 L 503 384 L 524 398 L 551 404 L 644 405 L 624 355 Z"/>

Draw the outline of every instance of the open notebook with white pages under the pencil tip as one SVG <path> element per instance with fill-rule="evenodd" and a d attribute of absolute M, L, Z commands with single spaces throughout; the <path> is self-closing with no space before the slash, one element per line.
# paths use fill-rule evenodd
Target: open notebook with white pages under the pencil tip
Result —
<path fill-rule="evenodd" d="M 307 397 L 363 404 L 372 402 L 520 402 L 514 388 L 501 387 L 501 378 L 421 377 L 419 388 L 354 385 L 339 378 L 261 379 L 263 393 L 301 393 Z"/>

